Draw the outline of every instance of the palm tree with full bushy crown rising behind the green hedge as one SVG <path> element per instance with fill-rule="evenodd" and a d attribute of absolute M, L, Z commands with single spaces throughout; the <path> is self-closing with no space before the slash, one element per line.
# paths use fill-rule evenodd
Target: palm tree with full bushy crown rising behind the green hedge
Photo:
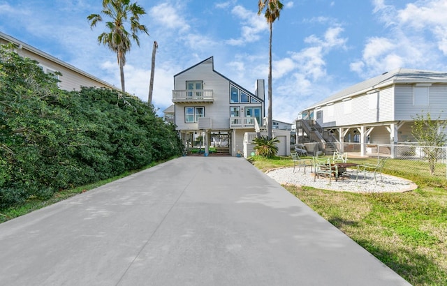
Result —
<path fill-rule="evenodd" d="M 112 52 L 117 54 L 119 65 L 119 75 L 121 76 L 121 89 L 126 91 L 124 86 L 124 65 L 126 64 L 126 52 L 131 50 L 131 38 L 140 45 L 138 31 L 145 32 L 147 28 L 140 24 L 140 15 L 146 14 L 145 9 L 136 3 L 130 3 L 130 0 L 103 0 L 103 10 L 101 14 L 110 18 L 105 22 L 108 33 L 103 32 L 98 36 L 98 43 L 107 45 Z M 87 17 L 91 29 L 98 22 L 103 21 L 101 14 L 91 14 Z M 130 17 L 129 17 L 130 16 Z M 131 33 L 126 30 L 125 24 L 130 24 Z"/>

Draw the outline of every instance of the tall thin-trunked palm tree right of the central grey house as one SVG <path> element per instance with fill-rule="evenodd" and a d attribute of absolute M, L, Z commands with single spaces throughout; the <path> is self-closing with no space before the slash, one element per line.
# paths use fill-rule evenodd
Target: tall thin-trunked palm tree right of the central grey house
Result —
<path fill-rule="evenodd" d="M 267 117 L 267 134 L 268 138 L 272 138 L 272 25 L 274 20 L 279 19 L 279 13 L 281 12 L 283 4 L 279 0 L 259 0 L 258 2 L 258 15 L 263 13 L 265 8 L 265 20 L 270 29 L 269 40 L 269 59 L 268 59 L 268 117 Z"/>

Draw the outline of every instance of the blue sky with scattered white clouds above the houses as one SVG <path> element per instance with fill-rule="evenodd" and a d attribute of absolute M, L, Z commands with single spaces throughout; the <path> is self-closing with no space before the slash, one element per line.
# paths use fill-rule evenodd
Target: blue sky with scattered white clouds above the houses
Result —
<path fill-rule="evenodd" d="M 101 0 L 0 0 L 0 31 L 115 86 L 116 56 L 98 45 L 87 15 Z M 214 69 L 254 91 L 268 77 L 268 25 L 257 0 L 137 3 L 150 36 L 140 34 L 124 68 L 126 91 L 147 100 L 154 40 L 153 104 L 171 104 L 173 75 L 214 56 Z M 300 110 L 394 68 L 447 70 L 447 1 L 283 0 L 273 25 L 273 118 Z"/>

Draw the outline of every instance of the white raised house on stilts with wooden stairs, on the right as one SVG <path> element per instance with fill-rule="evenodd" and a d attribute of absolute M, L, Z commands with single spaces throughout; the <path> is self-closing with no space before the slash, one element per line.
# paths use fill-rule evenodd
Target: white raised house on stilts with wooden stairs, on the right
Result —
<path fill-rule="evenodd" d="M 367 143 L 415 142 L 413 118 L 427 112 L 447 119 L 447 73 L 398 68 L 307 107 L 298 115 L 297 135 L 318 130 L 317 142 L 358 142 L 365 155 Z"/>

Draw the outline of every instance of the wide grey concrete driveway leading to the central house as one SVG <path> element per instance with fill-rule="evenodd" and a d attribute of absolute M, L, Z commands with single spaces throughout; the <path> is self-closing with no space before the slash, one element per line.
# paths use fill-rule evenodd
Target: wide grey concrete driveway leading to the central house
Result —
<path fill-rule="evenodd" d="M 0 285 L 409 285 L 243 158 L 182 157 L 0 225 Z"/>

